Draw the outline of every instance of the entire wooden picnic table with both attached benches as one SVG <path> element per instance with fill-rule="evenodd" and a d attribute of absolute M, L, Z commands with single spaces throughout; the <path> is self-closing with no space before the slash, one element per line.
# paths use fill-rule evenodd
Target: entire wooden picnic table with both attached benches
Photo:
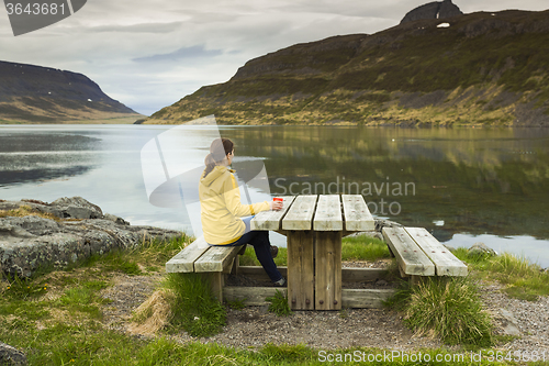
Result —
<path fill-rule="evenodd" d="M 293 310 L 379 308 L 394 289 L 341 289 L 341 281 L 360 282 L 382 278 L 382 268 L 341 268 L 341 239 L 374 231 L 374 220 L 360 195 L 282 197 L 279 211 L 262 211 L 250 222 L 251 230 L 269 230 L 287 236 L 288 296 Z M 383 228 L 383 237 L 396 258 L 401 276 L 419 284 L 432 276 L 467 276 L 467 266 L 424 228 Z M 249 306 L 266 303 L 273 287 L 224 286 L 227 274 L 266 277 L 257 266 L 239 266 L 245 247 L 210 246 L 198 237 L 166 263 L 167 273 L 197 273 L 208 278 L 220 300 L 243 300 Z M 268 279 L 268 278 L 267 278 Z"/>

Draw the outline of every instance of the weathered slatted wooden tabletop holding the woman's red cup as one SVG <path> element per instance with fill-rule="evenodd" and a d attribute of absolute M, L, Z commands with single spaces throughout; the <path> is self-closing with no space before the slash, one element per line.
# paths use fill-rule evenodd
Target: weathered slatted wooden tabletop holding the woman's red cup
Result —
<path fill-rule="evenodd" d="M 285 196 L 282 210 L 262 211 L 250 222 L 251 230 L 340 231 L 374 230 L 374 221 L 360 195 Z"/>

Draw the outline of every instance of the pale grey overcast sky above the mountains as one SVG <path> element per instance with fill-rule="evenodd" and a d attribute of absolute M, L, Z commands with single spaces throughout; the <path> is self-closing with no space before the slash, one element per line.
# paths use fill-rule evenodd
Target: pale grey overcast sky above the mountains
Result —
<path fill-rule="evenodd" d="M 0 15 L 1 60 L 81 73 L 150 114 L 247 60 L 295 43 L 372 34 L 422 0 L 88 0 L 48 27 L 13 36 Z M 547 0 L 455 0 L 461 11 L 546 10 Z"/>

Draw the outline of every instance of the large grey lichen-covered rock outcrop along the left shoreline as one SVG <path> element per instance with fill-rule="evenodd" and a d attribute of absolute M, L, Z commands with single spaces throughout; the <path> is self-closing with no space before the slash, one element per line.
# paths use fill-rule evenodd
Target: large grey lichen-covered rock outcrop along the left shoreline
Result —
<path fill-rule="evenodd" d="M 0 218 L 0 268 L 10 275 L 32 276 L 38 268 L 64 267 L 112 249 L 134 248 L 144 239 L 171 240 L 182 233 L 152 226 L 132 226 L 124 219 L 104 214 L 80 197 L 52 203 L 0 202 L 0 210 L 30 206 L 60 220 L 38 215 Z M 66 221 L 64 218 L 80 219 Z"/>

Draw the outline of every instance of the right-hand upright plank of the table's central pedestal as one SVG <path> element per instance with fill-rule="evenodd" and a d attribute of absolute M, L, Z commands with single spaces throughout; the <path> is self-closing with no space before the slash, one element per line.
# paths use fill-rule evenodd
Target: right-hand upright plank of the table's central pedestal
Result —
<path fill-rule="evenodd" d="M 315 232 L 316 310 L 341 309 L 341 232 Z"/>

